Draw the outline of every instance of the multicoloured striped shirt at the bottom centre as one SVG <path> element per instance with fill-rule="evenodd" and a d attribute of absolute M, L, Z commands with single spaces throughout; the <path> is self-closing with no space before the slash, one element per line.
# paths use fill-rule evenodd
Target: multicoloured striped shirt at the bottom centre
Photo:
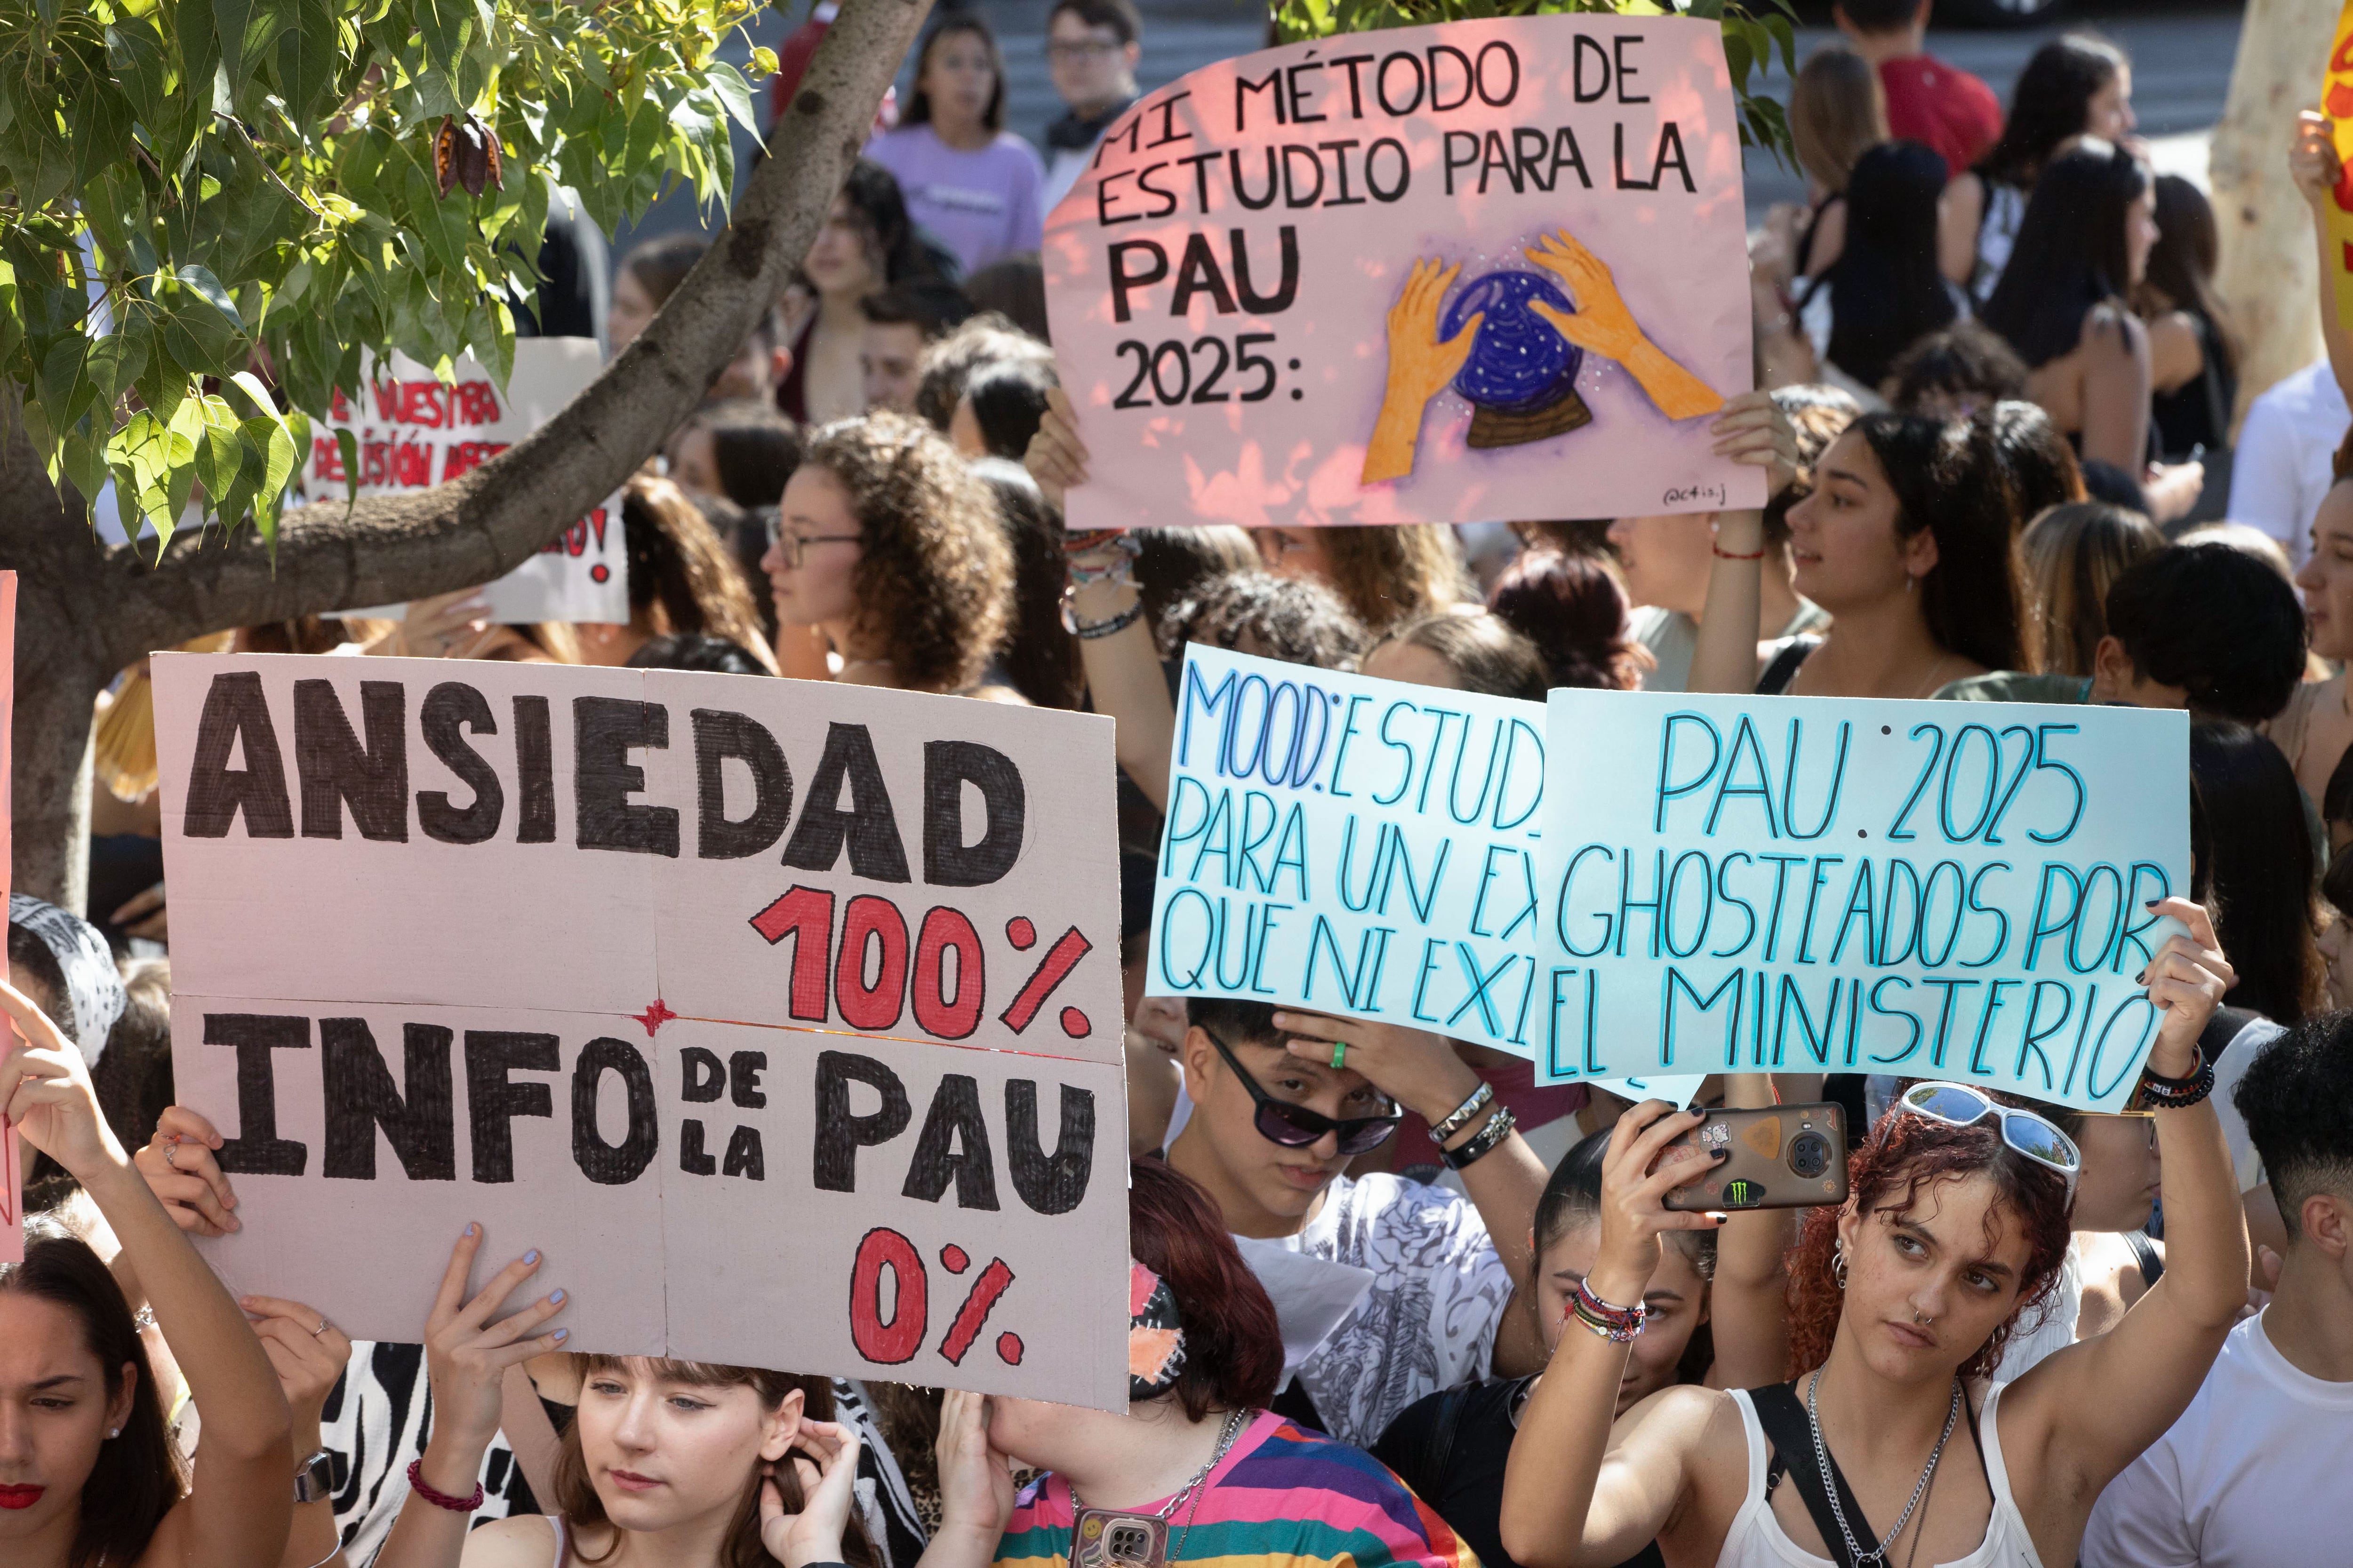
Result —
<path fill-rule="evenodd" d="M 1155 1500 L 1136 1512 L 1160 1509 Z M 995 1568 L 1071 1561 L 1071 1483 L 1031 1481 L 998 1542 Z M 1191 1530 L 1188 1530 L 1191 1523 Z M 1304 1432 L 1273 1410 L 1209 1472 L 1198 1507 L 1169 1519 L 1169 1561 L 1217 1568 L 1478 1568 L 1468 1544 L 1362 1448 Z"/>

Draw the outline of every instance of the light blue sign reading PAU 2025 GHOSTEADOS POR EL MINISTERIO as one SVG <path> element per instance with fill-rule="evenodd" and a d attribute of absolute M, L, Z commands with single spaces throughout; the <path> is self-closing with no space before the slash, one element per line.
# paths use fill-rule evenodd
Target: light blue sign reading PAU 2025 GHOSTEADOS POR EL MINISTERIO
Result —
<path fill-rule="evenodd" d="M 1537 1077 L 1951 1077 L 2118 1110 L 2188 717 L 1553 691 Z"/>

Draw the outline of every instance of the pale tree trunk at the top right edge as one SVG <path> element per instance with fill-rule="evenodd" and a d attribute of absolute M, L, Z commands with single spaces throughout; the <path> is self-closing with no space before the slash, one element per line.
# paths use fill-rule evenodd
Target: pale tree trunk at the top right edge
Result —
<path fill-rule="evenodd" d="M 2339 0 L 2247 0 L 2209 176 L 2221 228 L 2217 289 L 2245 355 L 2235 421 L 2257 393 L 2320 357 L 2313 221 L 2287 179 L 2299 108 L 2318 108 Z"/>

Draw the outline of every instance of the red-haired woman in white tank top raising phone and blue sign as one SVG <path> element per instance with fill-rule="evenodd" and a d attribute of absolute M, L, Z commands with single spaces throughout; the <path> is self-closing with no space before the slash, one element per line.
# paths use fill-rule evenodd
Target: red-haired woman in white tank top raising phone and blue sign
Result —
<path fill-rule="evenodd" d="M 1612 1138 L 1600 1255 L 1513 1443 L 1501 1526 L 1520 1563 L 1619 1563 L 1652 1537 L 1668 1568 L 2075 1561 L 2092 1502 L 2188 1406 L 2247 1288 L 2198 1056 L 2233 971 L 2205 910 L 2155 910 L 2188 936 L 2144 971 L 2160 1018 L 2141 1093 L 2158 1107 L 2172 1241 L 2148 1295 L 2113 1331 L 1981 1389 L 2057 1284 L 2082 1159 L 2040 1114 L 1915 1084 L 1854 1152 L 1847 1204 L 1805 1215 L 1788 1265 L 1795 1378 L 1661 1389 L 1612 1429 L 1661 1232 L 1718 1222 L 1661 1206 L 1699 1161 L 1649 1168 L 1701 1117 L 1645 1105 Z"/>

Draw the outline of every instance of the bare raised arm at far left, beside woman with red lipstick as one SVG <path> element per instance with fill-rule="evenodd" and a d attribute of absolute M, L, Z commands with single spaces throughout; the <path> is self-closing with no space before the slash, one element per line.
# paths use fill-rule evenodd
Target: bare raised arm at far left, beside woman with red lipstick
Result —
<path fill-rule="evenodd" d="M 0 983 L 0 1009 L 16 1032 L 0 1056 L 0 1107 L 106 1215 L 205 1413 L 205 1453 L 188 1497 L 155 1528 L 139 1561 L 172 1568 L 275 1563 L 294 1512 L 292 1418 L 278 1373 L 238 1302 L 115 1143 L 82 1053 L 14 985 Z"/>

